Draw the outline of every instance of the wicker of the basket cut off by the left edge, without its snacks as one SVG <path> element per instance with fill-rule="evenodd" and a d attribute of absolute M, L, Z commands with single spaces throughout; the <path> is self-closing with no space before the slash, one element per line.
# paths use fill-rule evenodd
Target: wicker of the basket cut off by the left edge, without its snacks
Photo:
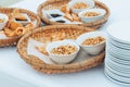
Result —
<path fill-rule="evenodd" d="M 5 14 L 10 15 L 15 9 L 17 9 L 17 8 L 0 8 L 0 13 L 5 13 Z M 24 9 L 17 9 L 17 10 L 20 10 L 21 13 L 27 13 L 27 15 L 29 16 L 29 18 L 31 21 L 36 21 L 36 25 L 32 28 L 40 26 L 41 21 L 40 21 L 39 16 L 36 15 L 34 12 L 30 12 L 30 11 L 24 10 Z M 20 36 L 8 37 L 5 39 L 0 38 L 0 47 L 14 46 L 14 45 L 16 45 L 16 42 L 20 38 L 21 38 Z"/>

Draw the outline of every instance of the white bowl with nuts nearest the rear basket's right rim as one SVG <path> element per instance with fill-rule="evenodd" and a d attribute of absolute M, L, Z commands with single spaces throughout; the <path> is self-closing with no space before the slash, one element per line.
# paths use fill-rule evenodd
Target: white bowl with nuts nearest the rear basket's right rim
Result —
<path fill-rule="evenodd" d="M 89 9 L 81 11 L 78 16 L 83 23 L 95 22 L 104 17 L 106 11 L 103 9 Z"/>

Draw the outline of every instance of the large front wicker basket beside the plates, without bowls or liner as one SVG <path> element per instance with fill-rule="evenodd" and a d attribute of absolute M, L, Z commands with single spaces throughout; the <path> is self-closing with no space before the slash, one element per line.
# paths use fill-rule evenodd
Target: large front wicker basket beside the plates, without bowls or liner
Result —
<path fill-rule="evenodd" d="M 65 33 L 66 36 L 64 39 L 76 39 L 79 35 L 88 32 L 92 32 L 92 29 L 77 25 L 51 25 L 51 26 L 40 27 L 20 39 L 17 44 L 17 52 L 20 53 L 21 58 L 24 61 L 26 61 L 28 64 L 30 64 L 35 70 L 38 70 L 47 74 L 72 73 L 72 72 L 87 70 L 101 64 L 104 60 L 105 53 L 102 52 L 99 55 L 92 57 L 91 59 L 87 59 L 81 62 L 60 65 L 60 64 L 48 64 L 41 59 L 39 59 L 37 55 L 28 54 L 27 47 L 29 46 L 28 40 L 30 38 L 40 42 L 46 42 L 48 41 L 47 38 L 51 37 L 52 33 L 55 35 L 56 33 Z M 48 34 L 47 38 L 44 37 L 44 34 Z"/>

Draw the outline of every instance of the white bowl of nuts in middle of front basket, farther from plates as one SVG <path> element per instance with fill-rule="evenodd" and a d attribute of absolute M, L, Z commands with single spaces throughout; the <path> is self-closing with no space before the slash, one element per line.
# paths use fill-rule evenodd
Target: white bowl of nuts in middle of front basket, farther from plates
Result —
<path fill-rule="evenodd" d="M 72 62 L 76 58 L 79 49 L 79 46 L 72 40 L 52 41 L 47 46 L 49 57 L 57 64 Z"/>

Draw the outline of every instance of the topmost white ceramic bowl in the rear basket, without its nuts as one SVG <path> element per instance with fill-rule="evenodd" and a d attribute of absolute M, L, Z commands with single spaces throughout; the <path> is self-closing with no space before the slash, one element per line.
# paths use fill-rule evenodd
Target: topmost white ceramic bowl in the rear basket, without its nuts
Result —
<path fill-rule="evenodd" d="M 77 2 L 83 2 L 86 4 L 89 4 L 89 7 L 87 9 L 73 9 L 72 7 L 77 3 Z M 84 11 L 84 10 L 88 10 L 88 9 L 92 9 L 95 7 L 94 4 L 94 1 L 93 0 L 72 0 L 69 3 L 68 3 L 68 7 L 72 9 L 73 13 L 79 13 L 81 11 Z"/>

